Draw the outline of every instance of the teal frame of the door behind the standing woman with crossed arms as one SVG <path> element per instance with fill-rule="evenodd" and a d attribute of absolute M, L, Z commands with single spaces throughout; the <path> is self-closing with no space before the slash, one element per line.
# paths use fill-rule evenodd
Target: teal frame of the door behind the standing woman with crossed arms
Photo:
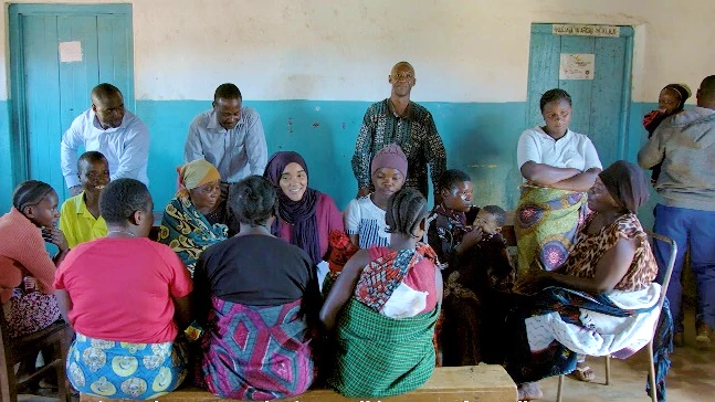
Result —
<path fill-rule="evenodd" d="M 532 49 L 532 34 L 533 33 L 551 33 L 553 32 L 553 25 L 558 24 L 558 22 L 554 23 L 541 23 L 541 22 L 533 22 L 532 23 L 532 29 L 529 31 L 529 61 L 528 61 L 528 72 L 527 72 L 527 84 L 526 84 L 526 113 L 524 116 L 525 119 L 525 127 L 528 126 L 528 120 L 529 120 L 529 110 L 528 106 L 530 105 L 530 91 L 529 86 L 532 85 L 532 62 L 533 57 L 535 56 L 533 52 L 530 51 Z M 598 25 L 598 23 L 596 24 Z M 630 120 L 630 113 L 631 113 L 631 86 L 632 86 L 632 76 L 633 76 L 633 36 L 635 30 L 633 27 L 622 27 L 619 25 L 620 28 L 620 33 L 619 38 L 624 38 L 625 39 L 625 60 L 624 60 L 624 65 L 623 65 L 623 89 L 621 91 L 621 98 L 623 99 L 623 104 L 621 105 L 621 110 L 620 110 L 620 120 L 619 120 L 619 138 L 618 138 L 618 148 L 617 148 L 617 154 L 618 154 L 618 159 L 625 159 L 625 152 L 628 150 L 628 141 L 629 141 L 629 120 Z"/>

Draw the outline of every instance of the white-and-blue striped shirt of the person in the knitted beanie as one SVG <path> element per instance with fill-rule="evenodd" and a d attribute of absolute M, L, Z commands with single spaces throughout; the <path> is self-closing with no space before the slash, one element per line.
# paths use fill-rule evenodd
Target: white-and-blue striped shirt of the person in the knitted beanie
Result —
<path fill-rule="evenodd" d="M 358 235 L 360 248 L 390 245 L 385 211 L 372 203 L 369 194 L 350 201 L 345 210 L 345 230 L 347 234 Z"/>

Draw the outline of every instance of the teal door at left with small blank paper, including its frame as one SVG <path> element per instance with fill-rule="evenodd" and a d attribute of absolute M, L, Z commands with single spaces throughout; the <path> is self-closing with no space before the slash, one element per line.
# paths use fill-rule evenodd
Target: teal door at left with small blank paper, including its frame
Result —
<path fill-rule="evenodd" d="M 102 83 L 134 109 L 132 6 L 11 4 L 11 81 L 15 181 L 49 182 L 69 197 L 60 140 Z"/>

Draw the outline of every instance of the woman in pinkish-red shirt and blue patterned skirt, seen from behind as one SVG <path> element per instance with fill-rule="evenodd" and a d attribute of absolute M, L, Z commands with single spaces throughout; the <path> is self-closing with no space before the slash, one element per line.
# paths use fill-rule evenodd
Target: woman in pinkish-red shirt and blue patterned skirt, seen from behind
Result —
<path fill-rule="evenodd" d="M 99 200 L 107 236 L 77 245 L 55 274 L 55 295 L 76 339 L 67 377 L 80 392 L 154 399 L 187 374 L 178 341 L 192 283 L 171 248 L 147 239 L 154 203 L 140 181 L 112 181 Z"/>

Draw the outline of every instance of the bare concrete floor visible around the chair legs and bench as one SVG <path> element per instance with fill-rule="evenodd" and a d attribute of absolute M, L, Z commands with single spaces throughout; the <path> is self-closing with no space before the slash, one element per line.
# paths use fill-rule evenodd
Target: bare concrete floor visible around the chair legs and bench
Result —
<path fill-rule="evenodd" d="M 695 348 L 694 315 L 685 315 L 685 347 L 675 348 L 671 355 L 672 366 L 667 374 L 667 401 L 706 401 L 715 394 L 715 341 L 709 350 Z M 562 401 L 606 402 L 606 401 L 650 401 L 645 394 L 648 357 L 642 350 L 628 360 L 611 359 L 611 384 L 604 385 L 606 368 L 603 358 L 587 358 L 596 373 L 596 382 L 579 382 L 566 378 Z M 558 378 L 540 382 L 544 399 L 556 401 Z M 709 395 L 709 396 L 707 396 Z M 296 400 L 299 400 L 297 398 Z M 52 398 L 22 395 L 24 402 L 50 402 Z"/>

